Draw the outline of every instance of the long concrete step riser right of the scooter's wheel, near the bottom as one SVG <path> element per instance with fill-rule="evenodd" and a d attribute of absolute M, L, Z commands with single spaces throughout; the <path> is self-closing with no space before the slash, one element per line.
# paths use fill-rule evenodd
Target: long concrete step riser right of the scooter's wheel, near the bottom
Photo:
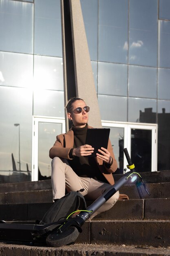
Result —
<path fill-rule="evenodd" d="M 170 246 L 170 221 L 93 221 L 91 243 Z"/>

